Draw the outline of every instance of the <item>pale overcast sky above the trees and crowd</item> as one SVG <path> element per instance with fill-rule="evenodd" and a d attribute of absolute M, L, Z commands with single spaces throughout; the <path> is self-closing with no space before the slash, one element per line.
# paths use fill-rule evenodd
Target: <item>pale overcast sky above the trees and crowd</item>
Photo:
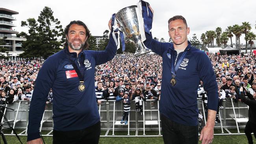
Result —
<path fill-rule="evenodd" d="M 124 7 L 136 5 L 139 0 L 0 0 L 0 7 L 19 12 L 13 15 L 17 26 L 13 29 L 27 32 L 20 22 L 28 18 L 37 20 L 45 6 L 54 11 L 63 28 L 72 20 L 81 20 L 89 27 L 92 35 L 102 36 L 108 30 L 108 21 L 113 13 Z M 202 33 L 221 27 L 224 31 L 234 24 L 249 22 L 256 34 L 256 0 L 146 0 L 154 9 L 152 35 L 169 41 L 168 20 L 175 15 L 182 15 L 190 28 L 188 39 L 193 34 L 198 40 Z M 245 44 L 244 35 L 240 38 Z M 232 39 L 235 42 L 235 37 Z M 230 41 L 228 41 L 230 44 Z"/>

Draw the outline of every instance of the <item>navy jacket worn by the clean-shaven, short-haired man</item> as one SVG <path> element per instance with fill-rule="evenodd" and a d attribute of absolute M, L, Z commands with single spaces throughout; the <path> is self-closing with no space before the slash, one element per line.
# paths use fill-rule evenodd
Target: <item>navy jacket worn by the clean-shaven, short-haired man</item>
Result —
<path fill-rule="evenodd" d="M 198 124 L 197 88 L 200 80 L 204 83 L 204 90 L 208 95 L 208 109 L 217 111 L 218 88 L 216 77 L 209 57 L 191 46 L 185 49 L 186 57 L 176 73 L 176 85 L 172 86 L 171 57 L 176 59 L 177 52 L 173 43 L 158 42 L 148 35 L 145 46 L 163 58 L 163 76 L 161 84 L 160 112 L 170 120 L 186 126 Z M 178 54 L 177 62 L 183 52 Z"/>

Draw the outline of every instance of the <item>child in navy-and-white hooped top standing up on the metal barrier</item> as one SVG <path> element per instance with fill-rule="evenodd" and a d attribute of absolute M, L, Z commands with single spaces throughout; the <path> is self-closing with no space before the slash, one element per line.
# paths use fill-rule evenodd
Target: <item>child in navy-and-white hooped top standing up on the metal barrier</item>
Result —
<path fill-rule="evenodd" d="M 131 101 L 130 98 L 128 97 L 129 92 L 124 92 L 124 115 L 122 116 L 121 124 L 127 124 L 128 123 L 128 116 L 130 113 L 130 108 L 131 108 Z"/>

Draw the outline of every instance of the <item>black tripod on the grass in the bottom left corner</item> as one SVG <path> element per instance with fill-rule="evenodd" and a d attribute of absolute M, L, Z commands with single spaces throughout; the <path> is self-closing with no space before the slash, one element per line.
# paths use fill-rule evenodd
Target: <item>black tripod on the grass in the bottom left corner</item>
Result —
<path fill-rule="evenodd" d="M 5 128 L 8 128 L 8 129 L 12 129 L 13 132 L 15 133 L 16 137 L 18 138 L 18 140 L 20 141 L 20 143 L 22 144 L 21 140 L 20 140 L 20 137 L 17 135 L 16 131 L 13 129 L 13 126 L 11 126 L 10 122 L 7 120 L 6 116 L 4 115 L 4 113 L 2 112 L 2 108 L 7 108 L 7 109 L 11 109 L 9 107 L 5 107 L 5 106 L 2 106 L 0 107 L 0 117 L 4 117 L 4 119 L 6 120 L 6 123 L 8 124 L 9 127 L 5 127 Z M 11 109 L 14 111 L 14 109 Z M 3 138 L 3 141 L 4 141 L 4 144 L 7 144 L 7 141 L 6 141 L 6 137 L 4 136 L 4 132 L 2 131 L 3 130 L 3 123 L 0 123 L 0 135 L 2 136 Z"/>

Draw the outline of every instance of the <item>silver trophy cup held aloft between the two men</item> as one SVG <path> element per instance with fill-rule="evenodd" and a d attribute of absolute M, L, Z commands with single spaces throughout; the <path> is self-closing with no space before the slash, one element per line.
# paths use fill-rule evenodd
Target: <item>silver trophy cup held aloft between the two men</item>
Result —
<path fill-rule="evenodd" d="M 144 27 L 139 28 L 136 9 L 137 6 L 135 5 L 124 7 L 115 14 L 115 18 L 117 23 L 120 25 L 121 31 L 125 33 L 128 39 L 135 42 L 135 57 L 152 51 L 148 49 L 141 41 L 141 33 L 144 33 Z"/>

